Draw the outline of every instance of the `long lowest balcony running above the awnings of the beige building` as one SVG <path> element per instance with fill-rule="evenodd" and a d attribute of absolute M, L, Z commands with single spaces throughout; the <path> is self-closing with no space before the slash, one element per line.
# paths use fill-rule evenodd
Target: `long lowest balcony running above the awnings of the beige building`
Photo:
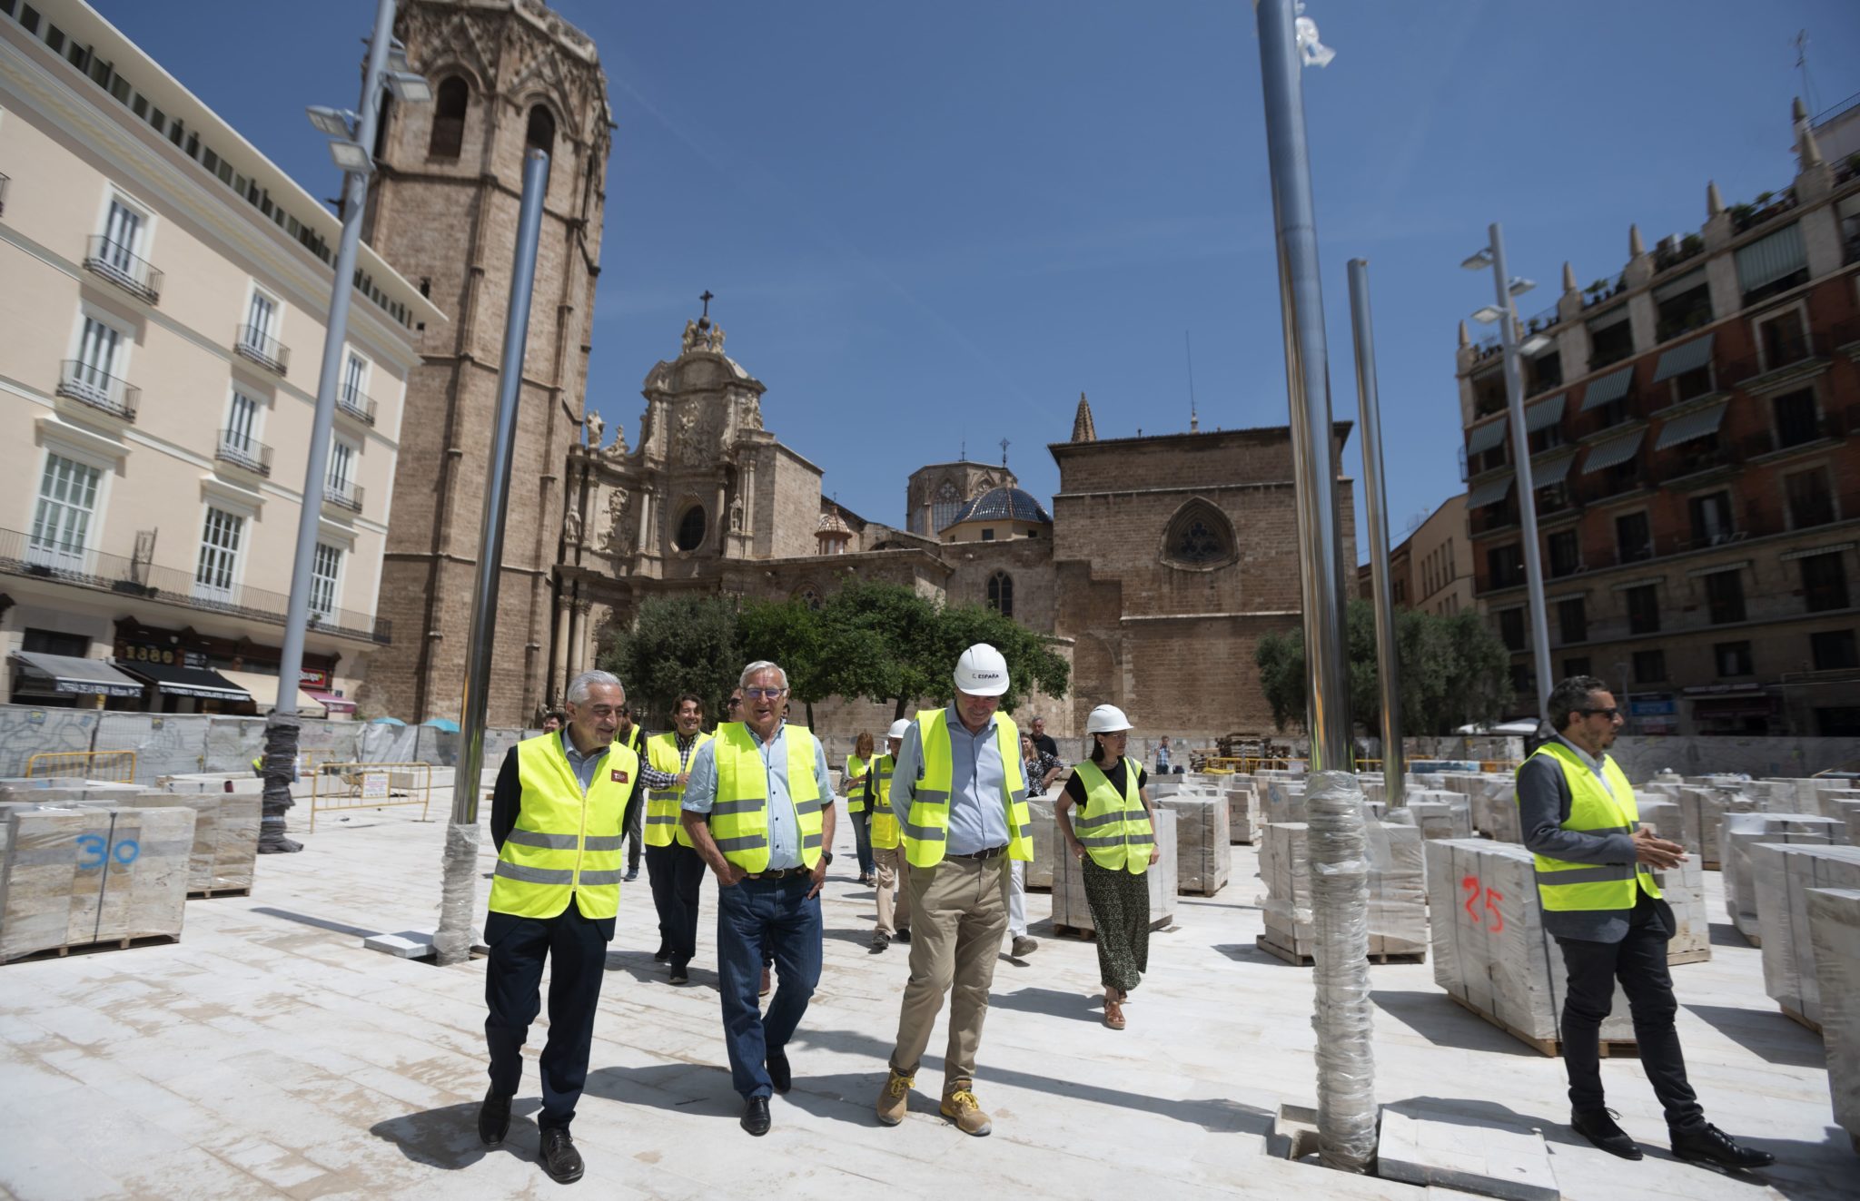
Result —
<path fill-rule="evenodd" d="M 84 547 L 39 543 L 20 530 L 0 530 L 0 574 L 54 580 L 97 593 L 115 593 L 160 604 L 227 614 L 264 625 L 283 627 L 290 597 L 260 587 L 201 587 L 192 571 L 156 567 Z M 316 621 L 326 634 L 387 643 L 392 627 L 387 617 L 333 610 Z"/>

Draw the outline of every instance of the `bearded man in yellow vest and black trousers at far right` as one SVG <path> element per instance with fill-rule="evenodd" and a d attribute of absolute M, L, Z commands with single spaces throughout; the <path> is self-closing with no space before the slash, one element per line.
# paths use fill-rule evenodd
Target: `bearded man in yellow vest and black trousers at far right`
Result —
<path fill-rule="evenodd" d="M 1607 755 L 1622 725 L 1614 695 L 1605 680 L 1575 675 L 1551 690 L 1548 712 L 1557 732 L 1518 766 L 1518 811 L 1523 844 L 1536 853 L 1544 930 L 1557 939 L 1570 980 L 1562 1002 L 1570 1125 L 1609 1155 L 1641 1158 L 1601 1095 L 1601 1021 L 1620 980 L 1672 1153 L 1726 1169 L 1774 1164 L 1774 1155 L 1741 1147 L 1707 1123 L 1687 1082 L 1667 970 L 1678 926 L 1654 883 L 1654 872 L 1685 861 L 1685 848 L 1639 824 L 1633 785 Z"/>

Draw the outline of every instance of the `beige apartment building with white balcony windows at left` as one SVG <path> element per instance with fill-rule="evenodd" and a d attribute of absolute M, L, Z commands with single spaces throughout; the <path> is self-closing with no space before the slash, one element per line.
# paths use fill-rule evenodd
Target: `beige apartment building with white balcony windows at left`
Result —
<path fill-rule="evenodd" d="M 275 703 L 339 238 L 89 6 L 0 0 L 0 701 Z M 392 636 L 402 396 L 445 320 L 368 247 L 357 268 L 307 716 L 353 714 Z"/>

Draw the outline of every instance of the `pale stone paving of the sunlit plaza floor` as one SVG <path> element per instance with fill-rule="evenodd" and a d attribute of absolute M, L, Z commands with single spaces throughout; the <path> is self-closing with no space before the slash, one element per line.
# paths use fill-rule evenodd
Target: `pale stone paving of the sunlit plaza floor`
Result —
<path fill-rule="evenodd" d="M 0 967 L 0 1192 L 15 1197 L 517 1197 L 564 1186 L 536 1164 L 532 1030 L 500 1149 L 478 1145 L 485 1088 L 484 963 L 437 969 L 363 950 L 368 933 L 432 930 L 443 805 L 318 820 L 299 855 L 259 861 L 249 898 L 188 904 L 179 944 Z M 301 833 L 303 809 L 292 812 Z M 826 967 L 789 1054 L 774 1130 L 737 1127 L 716 996 L 714 883 L 705 881 L 690 987 L 666 983 L 644 874 L 621 894 L 577 1145 L 582 1195 L 1256 1195 L 1423 1197 L 1265 1155 L 1282 1102 L 1309 1104 L 1311 972 L 1254 948 L 1252 848 L 1213 898 L 1179 898 L 1151 937 L 1151 974 L 1107 1030 L 1090 943 L 1051 937 L 1003 959 L 976 1093 L 990 1138 L 936 1114 L 941 1030 L 902 1127 L 872 1101 L 897 1032 L 906 946 L 869 954 L 872 892 L 850 833 L 826 891 Z M 482 870 L 491 868 L 489 838 Z M 1709 904 L 1722 915 L 1719 874 Z M 478 881 L 480 902 L 487 883 Z M 1562 1063 L 1453 1004 L 1428 965 L 1371 969 L 1376 1097 L 1481 1130 L 1538 1127 L 1564 1197 L 1860 1195 L 1860 1156 L 1828 1108 L 1821 1039 L 1763 995 L 1758 952 L 1713 926 L 1713 959 L 1674 969 L 1680 1032 L 1707 1115 L 1776 1153 L 1745 1179 L 1681 1164 L 1635 1060 L 1603 1062 L 1609 1102 L 1648 1158 L 1575 1140 Z M 1440 1194 L 1443 1190 L 1432 1190 Z"/>

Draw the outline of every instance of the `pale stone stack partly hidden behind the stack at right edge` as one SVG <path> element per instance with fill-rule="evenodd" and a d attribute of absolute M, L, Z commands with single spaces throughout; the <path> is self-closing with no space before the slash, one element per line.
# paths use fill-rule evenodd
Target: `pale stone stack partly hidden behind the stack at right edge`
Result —
<path fill-rule="evenodd" d="M 1808 937 L 1810 889 L 1860 889 L 1860 846 L 1752 842 L 1763 991 L 1784 1013 L 1819 1028 L 1821 987 Z"/>

